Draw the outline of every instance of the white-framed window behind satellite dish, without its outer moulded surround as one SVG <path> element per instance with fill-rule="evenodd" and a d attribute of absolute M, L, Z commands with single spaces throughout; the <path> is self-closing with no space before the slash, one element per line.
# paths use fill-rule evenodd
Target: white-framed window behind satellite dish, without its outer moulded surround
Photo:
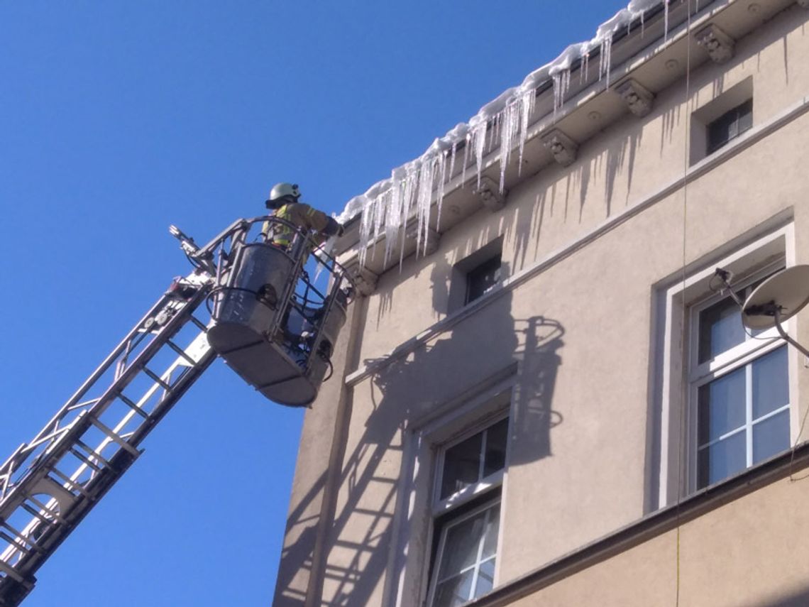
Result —
<path fill-rule="evenodd" d="M 770 266 L 742 282 L 739 299 L 780 269 Z M 692 466 L 701 489 L 790 447 L 790 389 L 777 330 L 748 333 L 729 295 L 694 306 L 691 318 Z"/>

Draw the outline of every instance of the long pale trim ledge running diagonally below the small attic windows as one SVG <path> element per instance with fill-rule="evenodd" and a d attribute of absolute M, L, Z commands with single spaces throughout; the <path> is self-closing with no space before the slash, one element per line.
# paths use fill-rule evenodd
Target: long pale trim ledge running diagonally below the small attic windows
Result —
<path fill-rule="evenodd" d="M 599 225 L 590 231 L 587 231 L 587 233 L 583 234 L 572 243 L 567 244 L 564 247 L 557 248 L 557 250 L 549 253 L 539 261 L 536 261 L 536 263 L 527 267 L 525 270 L 506 278 L 501 285 L 494 287 L 492 291 L 489 291 L 489 293 L 475 299 L 470 304 L 464 306 L 464 308 L 460 308 L 459 310 L 448 314 L 443 319 L 438 320 L 438 322 L 434 323 L 434 325 L 430 325 L 430 327 L 427 327 L 421 331 L 421 333 L 417 333 L 417 335 L 410 338 L 408 341 L 402 342 L 399 346 L 396 346 L 388 354 L 379 357 L 379 359 L 374 363 L 368 363 L 358 367 L 356 371 L 345 376 L 345 384 L 348 386 L 354 386 L 360 383 L 362 380 L 368 379 L 369 377 L 373 376 L 376 371 L 379 371 L 380 369 L 387 367 L 389 364 L 404 358 L 404 356 L 413 352 L 413 350 L 416 350 L 418 347 L 426 344 L 426 342 L 429 342 L 430 339 L 450 331 L 462 320 L 468 316 L 472 316 L 472 314 L 478 312 L 482 308 L 485 308 L 485 306 L 492 304 L 502 295 L 506 295 L 506 293 L 509 291 L 515 290 L 515 288 L 522 285 L 523 282 L 527 282 L 531 278 L 534 278 L 537 274 L 541 274 L 553 265 L 563 261 L 566 257 L 570 257 L 570 255 L 577 252 L 580 248 L 594 242 L 601 236 L 607 234 L 609 231 L 612 231 L 616 227 L 620 226 L 622 223 L 632 219 L 635 215 L 641 213 L 643 210 L 653 206 L 654 203 L 660 202 L 672 193 L 680 190 L 680 188 L 682 188 L 686 182 L 690 183 L 697 179 L 697 177 L 705 175 L 705 173 L 710 172 L 720 164 L 724 163 L 726 160 L 731 159 L 741 151 L 746 150 L 754 143 L 769 136 L 770 134 L 773 134 L 775 131 L 777 131 L 777 129 L 780 129 L 781 126 L 787 125 L 798 117 L 803 116 L 803 114 L 806 112 L 809 112 L 809 96 L 803 97 L 803 99 L 799 100 L 798 103 L 786 108 L 786 110 L 777 114 L 777 116 L 773 117 L 770 121 L 749 129 L 743 135 L 735 138 L 731 143 L 728 143 L 726 146 L 714 152 L 714 154 L 702 159 L 700 162 L 688 168 L 688 171 L 685 172 L 684 176 L 676 177 L 653 193 L 648 194 L 646 197 L 642 197 L 642 199 L 637 202 L 635 206 L 631 206 L 628 209 L 621 211 L 621 213 L 616 214 L 614 217 L 599 223 Z"/>

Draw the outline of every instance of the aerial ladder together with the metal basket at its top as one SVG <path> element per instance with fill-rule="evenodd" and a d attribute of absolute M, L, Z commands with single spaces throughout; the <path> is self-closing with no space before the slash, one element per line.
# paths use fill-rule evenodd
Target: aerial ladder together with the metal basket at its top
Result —
<path fill-rule="evenodd" d="M 263 295 L 233 285 L 238 283 L 235 274 L 239 256 L 244 257 L 243 249 L 253 244 L 269 246 L 248 241 L 251 228 L 266 219 L 240 219 L 202 248 L 172 226 L 172 236 L 180 240 L 194 265 L 193 272 L 172 282 L 169 291 L 138 320 L 45 427 L 0 466 L 2 607 L 19 605 L 28 596 L 36 583 L 36 570 L 138 459 L 146 435 L 217 357 L 208 333 L 218 325 L 217 316 L 222 316 L 218 308 L 227 308 L 223 313 L 229 315 L 226 320 L 233 325 L 234 320 L 239 322 L 238 314 L 232 313 L 234 303 L 252 304 L 253 299 Z M 282 252 L 291 260 L 285 267 L 290 266 L 296 273 L 287 277 L 283 292 L 278 294 L 286 300 L 276 299 L 273 313 L 262 316 L 269 318 L 262 338 L 264 350 L 256 350 L 252 344 L 251 351 L 265 356 L 268 352 L 277 354 L 265 360 L 268 367 L 292 361 L 294 367 L 290 368 L 297 371 L 291 385 L 299 384 L 303 378 L 316 390 L 322 380 L 322 376 L 317 379 L 318 363 L 324 363 L 326 349 L 320 345 L 315 350 L 312 346 L 336 337 L 333 330 L 331 335 L 323 334 L 328 333 L 324 329 L 328 314 L 323 312 L 345 304 L 338 299 L 338 293 L 345 293 L 341 291 L 343 272 L 329 258 L 326 265 L 331 272 L 330 289 L 328 295 L 320 295 L 303 270 L 311 241 L 300 232 L 296 233 L 296 241 L 297 250 Z M 283 341 L 284 323 L 296 314 L 305 315 L 311 308 L 311 298 L 302 300 L 300 289 L 295 287 L 302 277 L 307 294 L 311 287 L 320 295 L 323 318 L 307 325 L 313 329 L 314 344 L 310 340 L 305 347 L 293 347 Z M 239 310 L 243 308 L 244 305 Z M 330 352 L 332 344 L 328 345 Z M 273 397 L 274 386 L 262 389 L 249 372 L 245 374 L 239 368 L 239 359 L 234 363 L 227 352 L 222 356 L 239 375 Z"/>

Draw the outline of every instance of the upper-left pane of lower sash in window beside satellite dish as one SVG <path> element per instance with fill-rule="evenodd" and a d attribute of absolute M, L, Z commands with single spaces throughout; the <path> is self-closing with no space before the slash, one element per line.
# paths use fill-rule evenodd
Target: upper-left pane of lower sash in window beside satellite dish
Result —
<path fill-rule="evenodd" d="M 699 389 L 697 435 L 700 445 L 744 425 L 744 367 Z"/>

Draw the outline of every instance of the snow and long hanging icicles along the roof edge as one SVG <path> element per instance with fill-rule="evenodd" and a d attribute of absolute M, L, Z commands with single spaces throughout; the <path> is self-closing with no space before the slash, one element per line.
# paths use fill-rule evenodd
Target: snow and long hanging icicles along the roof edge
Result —
<path fill-rule="evenodd" d="M 587 61 L 596 49 L 599 52 L 599 79 L 604 77 L 609 79 L 612 37 L 624 28 L 628 29 L 636 19 L 640 19 L 643 23 L 646 12 L 661 4 L 664 8 L 664 32 L 667 32 L 669 2 L 671 0 L 630 0 L 626 8 L 599 26 L 591 40 L 568 46 L 552 62 L 528 74 L 519 86 L 503 91 L 496 99 L 485 104 L 468 122 L 455 125 L 443 137 L 436 138 L 417 159 L 394 168 L 388 179 L 378 181 L 366 193 L 349 200 L 345 209 L 337 216 L 337 220 L 345 223 L 357 215 L 362 215 L 359 235 L 360 265 L 365 264 L 369 245 L 376 242 L 382 233 L 386 237 L 385 257 L 388 259 L 396 246 L 400 229 L 413 213 L 414 206 L 417 217 L 417 250 L 421 246 L 426 248 L 433 192 L 435 189 L 438 190 L 436 196 L 440 224 L 443 189 L 452 176 L 456 155 L 461 149 L 464 155 L 460 160 L 463 162 L 462 181 L 465 181 L 470 155 L 474 155 L 477 182 L 480 185 L 486 130 L 490 123 L 498 127 L 500 135 L 502 190 L 506 166 L 515 144 L 522 160 L 536 90 L 549 80 L 553 83 L 553 108 L 556 111 L 561 107 L 565 92 L 570 85 L 570 71 L 578 63 L 587 70 Z M 489 147 L 492 146 L 492 137 L 493 135 L 489 137 Z M 402 250 L 404 251 L 404 248 Z"/>

